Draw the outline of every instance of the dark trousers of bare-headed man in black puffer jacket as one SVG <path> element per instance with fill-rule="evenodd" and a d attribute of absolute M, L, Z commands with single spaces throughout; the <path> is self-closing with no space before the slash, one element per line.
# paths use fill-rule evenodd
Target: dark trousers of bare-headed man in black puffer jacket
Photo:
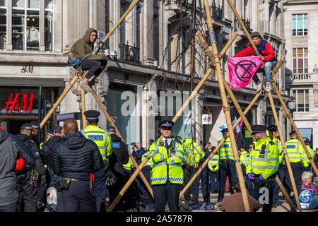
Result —
<path fill-rule="evenodd" d="M 72 181 L 61 191 L 65 212 L 96 212 L 96 197 L 90 194 L 89 181 Z"/>

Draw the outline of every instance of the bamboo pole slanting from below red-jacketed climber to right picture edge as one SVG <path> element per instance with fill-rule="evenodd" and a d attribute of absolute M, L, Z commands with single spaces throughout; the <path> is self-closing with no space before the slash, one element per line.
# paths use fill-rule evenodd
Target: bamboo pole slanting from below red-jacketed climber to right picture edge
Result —
<path fill-rule="evenodd" d="M 316 165 L 314 164 L 314 160 L 312 159 L 312 156 L 310 155 L 310 153 L 307 149 L 307 146 L 306 146 L 304 140 L 302 139 L 302 136 L 301 136 L 296 124 L 295 124 L 295 121 L 293 120 L 293 117 L 291 116 L 290 112 L 288 111 L 287 106 L 285 105 L 283 97 L 281 97 L 281 94 L 279 93 L 275 82 L 272 81 L 271 84 L 273 85 L 274 91 L 275 91 L 276 95 L 278 96 L 278 100 L 281 102 L 281 105 L 283 106 L 283 109 L 285 110 L 285 113 L 286 113 L 288 119 L 290 120 L 290 123 L 292 124 L 293 128 L 295 129 L 295 132 L 297 133 L 298 140 L 300 140 L 300 143 L 302 143 L 302 147 L 305 149 L 305 153 L 307 154 L 307 157 L 310 160 L 310 163 L 312 165 L 312 168 L 314 169 L 314 172 L 316 173 L 316 175 L 318 175 L 318 170 L 317 170 Z"/>

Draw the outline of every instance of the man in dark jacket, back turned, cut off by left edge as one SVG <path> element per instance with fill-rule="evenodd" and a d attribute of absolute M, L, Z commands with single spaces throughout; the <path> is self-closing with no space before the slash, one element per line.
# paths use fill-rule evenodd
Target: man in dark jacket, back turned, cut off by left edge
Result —
<path fill-rule="evenodd" d="M 0 212 L 17 212 L 20 190 L 15 172 L 16 160 L 22 158 L 25 167 L 20 171 L 30 172 L 35 167 L 35 159 L 20 139 L 0 129 Z M 30 174 L 29 174 L 30 175 Z"/>

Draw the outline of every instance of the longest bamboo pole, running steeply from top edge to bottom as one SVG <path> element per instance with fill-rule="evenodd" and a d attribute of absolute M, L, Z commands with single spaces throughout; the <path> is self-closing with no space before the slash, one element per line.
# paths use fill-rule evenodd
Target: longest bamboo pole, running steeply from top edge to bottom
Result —
<path fill-rule="evenodd" d="M 218 47 L 216 46 L 216 35 L 214 34 L 214 30 L 213 30 L 213 26 L 212 26 L 211 12 L 210 12 L 210 8 L 208 8 L 208 0 L 204 0 L 204 8 L 206 9 L 206 18 L 208 19 L 208 33 L 209 33 L 209 37 L 210 37 L 210 44 L 212 45 L 214 60 L 216 61 L 215 65 L 216 65 L 216 72 L 218 75 L 220 95 L 221 95 L 222 102 L 223 102 L 223 111 L 225 113 L 225 118 L 226 118 L 226 121 L 228 124 L 228 132 L 230 133 L 230 142 L 231 142 L 231 146 L 232 146 L 232 152 L 234 155 L 237 176 L 238 176 L 238 179 L 240 182 L 243 204 L 244 204 L 245 212 L 250 212 L 249 201 L 247 198 L 247 189 L 245 187 L 245 179 L 243 177 L 242 167 L 240 165 L 240 160 L 239 160 L 238 153 L 237 153 L 237 146 L 236 146 L 234 131 L 233 131 L 233 127 L 232 127 L 232 120 L 230 117 L 230 109 L 228 107 L 228 101 L 226 100 L 226 94 L 225 94 L 225 89 L 224 89 L 224 84 L 223 84 L 223 79 L 222 79 L 223 74 L 222 74 L 222 71 L 220 68 Z"/>

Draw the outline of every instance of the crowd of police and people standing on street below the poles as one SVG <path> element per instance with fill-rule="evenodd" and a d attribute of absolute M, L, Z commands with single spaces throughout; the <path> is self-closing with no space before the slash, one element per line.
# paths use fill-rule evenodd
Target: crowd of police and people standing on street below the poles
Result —
<path fill-rule="evenodd" d="M 151 184 L 153 196 L 139 175 L 114 211 L 244 211 L 228 129 L 223 129 L 226 139 L 214 152 L 216 147 L 211 143 L 203 146 L 191 138 L 173 136 L 174 123 L 164 120 L 159 125 L 160 138 L 148 149 L 136 142 L 128 150 L 114 127 L 108 126 L 105 131 L 98 126 L 100 112 L 90 110 L 84 114 L 86 129 L 79 131 L 77 121 L 67 119 L 63 127 L 48 130 L 47 140 L 42 143 L 37 141 L 41 128 L 36 121 L 23 124 L 18 136 L 0 129 L 0 211 L 105 212 L 136 170 L 136 164 L 141 165 L 146 158 L 141 172 Z M 249 205 L 254 211 L 261 207 L 259 189 L 266 187 L 270 201 L 262 208 L 271 211 L 278 205 L 280 192 L 276 175 L 288 195 L 293 189 L 277 127 L 254 125 L 252 131 L 256 141 L 238 148 Z M 317 185 L 312 182 L 314 171 L 295 131 L 290 136 L 286 151 L 298 192 L 311 189 L 310 208 L 315 209 L 318 203 Z M 307 145 L 307 149 L 317 165 L 318 148 L 314 152 Z M 206 160 L 208 164 L 199 177 L 179 198 Z M 227 180 L 231 195 L 224 198 Z M 203 204 L 199 202 L 200 184 Z M 211 203 L 213 193 L 218 193 L 217 205 Z"/>

